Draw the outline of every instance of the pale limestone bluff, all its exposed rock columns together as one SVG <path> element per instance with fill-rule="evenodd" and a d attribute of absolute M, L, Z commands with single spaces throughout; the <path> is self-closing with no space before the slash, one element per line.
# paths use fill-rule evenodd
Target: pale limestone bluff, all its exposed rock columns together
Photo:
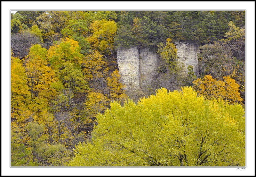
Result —
<path fill-rule="evenodd" d="M 176 41 L 178 62 L 183 64 L 184 73 L 188 73 L 188 65 L 193 66 L 193 71 L 198 77 L 197 54 L 199 46 L 184 41 Z M 149 48 L 138 49 L 137 47 L 120 48 L 117 50 L 117 64 L 121 82 L 127 87 L 140 89 L 144 85 L 151 85 L 161 58 Z"/>

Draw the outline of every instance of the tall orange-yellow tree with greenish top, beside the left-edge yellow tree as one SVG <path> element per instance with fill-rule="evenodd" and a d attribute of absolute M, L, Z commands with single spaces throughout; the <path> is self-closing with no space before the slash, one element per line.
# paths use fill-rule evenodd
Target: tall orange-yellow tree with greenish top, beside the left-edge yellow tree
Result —
<path fill-rule="evenodd" d="M 49 108 L 49 104 L 55 99 L 57 91 L 52 83 L 58 82 L 55 72 L 46 59 L 47 50 L 36 44 L 30 48 L 27 63 L 25 65 L 28 76 L 28 85 L 32 98 L 35 101 L 34 110 Z"/>

